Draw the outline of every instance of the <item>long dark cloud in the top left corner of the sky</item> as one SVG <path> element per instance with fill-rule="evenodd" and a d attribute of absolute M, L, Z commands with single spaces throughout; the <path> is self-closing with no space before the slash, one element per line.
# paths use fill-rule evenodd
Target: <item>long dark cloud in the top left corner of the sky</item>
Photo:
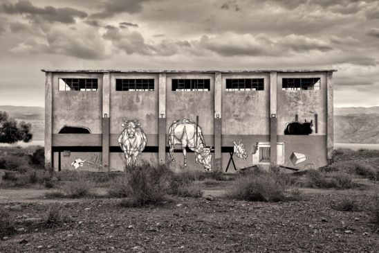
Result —
<path fill-rule="evenodd" d="M 9 15 L 19 14 L 26 15 L 27 19 L 32 21 L 50 21 L 60 22 L 64 24 L 75 23 L 75 17 L 87 17 L 87 13 L 74 8 L 55 8 L 53 6 L 46 6 L 40 8 L 33 6 L 30 1 L 20 0 L 17 3 L 3 3 L 0 6 L 1 10 Z"/>

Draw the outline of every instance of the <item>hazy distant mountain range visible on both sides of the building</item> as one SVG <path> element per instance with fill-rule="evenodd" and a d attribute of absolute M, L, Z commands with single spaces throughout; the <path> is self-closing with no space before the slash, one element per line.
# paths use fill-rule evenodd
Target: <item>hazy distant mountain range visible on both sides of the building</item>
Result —
<path fill-rule="evenodd" d="M 32 123 L 34 141 L 44 140 L 44 107 L 0 105 L 17 121 Z M 334 141 L 337 143 L 379 143 L 379 106 L 335 107 Z"/>

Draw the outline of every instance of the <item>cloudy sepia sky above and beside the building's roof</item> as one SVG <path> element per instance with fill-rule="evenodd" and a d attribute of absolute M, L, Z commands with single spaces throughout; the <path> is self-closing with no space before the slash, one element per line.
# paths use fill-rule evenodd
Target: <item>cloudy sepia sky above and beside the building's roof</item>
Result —
<path fill-rule="evenodd" d="M 338 69 L 379 105 L 379 1 L 1 0 L 0 105 L 44 106 L 40 69 Z"/>

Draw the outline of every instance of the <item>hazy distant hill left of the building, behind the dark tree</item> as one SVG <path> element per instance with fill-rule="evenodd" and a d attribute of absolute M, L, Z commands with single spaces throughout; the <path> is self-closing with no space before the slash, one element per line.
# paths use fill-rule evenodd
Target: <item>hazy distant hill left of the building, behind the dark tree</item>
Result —
<path fill-rule="evenodd" d="M 0 111 L 8 112 L 17 121 L 32 124 L 33 141 L 43 141 L 45 132 L 45 108 L 29 106 L 0 105 Z"/>

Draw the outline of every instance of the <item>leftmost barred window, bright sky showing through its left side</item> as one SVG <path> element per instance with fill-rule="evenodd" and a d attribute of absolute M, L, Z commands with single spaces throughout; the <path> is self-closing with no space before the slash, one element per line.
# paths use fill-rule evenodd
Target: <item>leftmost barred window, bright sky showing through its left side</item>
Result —
<path fill-rule="evenodd" d="M 59 91 L 98 91 L 97 78 L 59 78 Z"/>

